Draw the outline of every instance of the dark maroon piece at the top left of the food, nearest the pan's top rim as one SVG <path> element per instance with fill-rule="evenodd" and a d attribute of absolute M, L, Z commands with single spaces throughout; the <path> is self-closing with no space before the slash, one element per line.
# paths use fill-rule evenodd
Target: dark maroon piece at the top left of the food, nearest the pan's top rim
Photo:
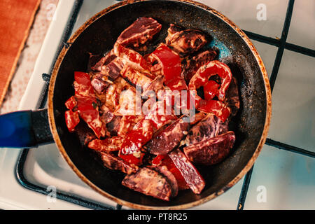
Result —
<path fill-rule="evenodd" d="M 153 18 L 138 18 L 130 27 L 127 27 L 117 39 L 121 45 L 139 47 L 151 40 L 161 30 L 162 25 Z"/>

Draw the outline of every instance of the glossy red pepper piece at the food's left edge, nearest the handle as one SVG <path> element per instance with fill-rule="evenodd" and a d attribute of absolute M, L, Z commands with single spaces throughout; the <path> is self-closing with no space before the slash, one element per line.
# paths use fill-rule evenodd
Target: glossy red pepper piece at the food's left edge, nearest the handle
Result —
<path fill-rule="evenodd" d="M 105 125 L 100 120 L 96 98 L 76 97 L 80 117 L 93 130 L 97 138 L 105 136 Z"/>

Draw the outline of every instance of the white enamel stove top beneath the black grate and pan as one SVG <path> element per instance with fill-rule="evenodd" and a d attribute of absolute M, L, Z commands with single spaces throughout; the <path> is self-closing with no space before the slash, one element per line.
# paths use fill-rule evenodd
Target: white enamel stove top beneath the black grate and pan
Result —
<path fill-rule="evenodd" d="M 71 15 L 74 0 L 60 0 L 48 34 L 38 56 L 33 76 L 22 98 L 20 109 L 35 109 L 44 86 L 42 73 L 49 73 L 62 33 Z M 73 27 L 80 25 L 117 1 L 85 0 Z M 221 11 L 241 29 L 280 38 L 288 1 L 220 1 L 202 3 Z M 259 7 L 258 7 L 258 4 Z M 287 42 L 304 48 L 315 48 L 314 1 L 297 0 Z M 313 6 L 313 7 L 311 7 Z M 258 20 L 265 7 L 266 20 Z M 261 14 L 259 14 L 261 15 Z M 305 26 L 300 24 L 304 23 Z M 307 26 L 309 29 L 305 28 Z M 267 72 L 272 72 L 277 48 L 253 41 L 262 57 Z M 269 138 L 286 144 L 315 151 L 315 77 L 314 57 L 284 50 L 281 66 L 273 91 L 273 116 Z M 41 193 L 22 186 L 15 177 L 19 149 L 0 151 L 0 209 L 86 209 L 72 202 L 51 200 Z M 30 183 L 78 197 L 100 206 L 116 207 L 80 181 L 68 167 L 55 144 L 29 150 L 23 175 Z M 255 162 L 244 209 L 315 209 L 315 160 L 297 153 L 264 146 Z M 236 209 L 243 179 L 227 193 L 193 209 Z M 48 188 L 50 192 L 51 188 Z M 265 195 L 262 195 L 265 194 Z M 265 196 L 265 197 L 263 197 Z M 123 209 L 127 209 L 123 207 Z"/>

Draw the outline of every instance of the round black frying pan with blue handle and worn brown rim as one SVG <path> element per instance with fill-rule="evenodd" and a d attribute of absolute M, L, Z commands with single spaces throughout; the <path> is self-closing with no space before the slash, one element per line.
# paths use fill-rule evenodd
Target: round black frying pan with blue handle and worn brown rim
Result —
<path fill-rule="evenodd" d="M 86 71 L 88 52 L 99 54 L 111 50 L 121 31 L 142 16 L 152 17 L 162 24 L 161 33 L 148 50 L 165 40 L 170 23 L 200 29 L 211 36 L 209 47 L 219 50 L 218 59 L 230 66 L 239 83 L 241 108 L 230 122 L 230 129 L 236 134 L 235 146 L 223 162 L 197 167 L 207 183 L 200 195 L 182 190 L 173 200 L 165 202 L 125 188 L 121 185 L 124 174 L 104 167 L 92 150 L 80 146 L 78 137 L 67 130 L 64 122 L 64 102 L 74 94 L 73 71 Z M 70 46 L 65 46 L 60 53 L 50 78 L 48 110 L 0 116 L 0 146 L 34 147 L 53 137 L 69 166 L 100 193 L 100 197 L 103 195 L 134 209 L 195 207 L 230 189 L 251 169 L 269 129 L 269 80 L 253 43 L 224 15 L 190 0 L 123 1 L 87 20 L 69 43 Z"/>

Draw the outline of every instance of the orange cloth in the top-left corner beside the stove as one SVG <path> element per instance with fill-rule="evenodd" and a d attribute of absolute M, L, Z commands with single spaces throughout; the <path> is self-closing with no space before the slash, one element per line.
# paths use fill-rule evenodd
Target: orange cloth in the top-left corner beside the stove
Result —
<path fill-rule="evenodd" d="M 0 1 L 0 105 L 41 0 Z"/>

